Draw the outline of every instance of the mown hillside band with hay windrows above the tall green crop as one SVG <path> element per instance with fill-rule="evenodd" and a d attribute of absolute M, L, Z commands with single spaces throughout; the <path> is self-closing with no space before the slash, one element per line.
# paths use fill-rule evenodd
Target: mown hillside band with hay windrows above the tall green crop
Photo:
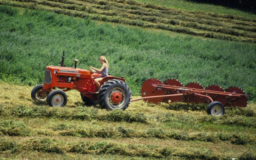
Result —
<path fill-rule="evenodd" d="M 1 0 L 0 4 L 188 35 L 256 42 L 256 18 L 184 11 L 131 0 Z"/>

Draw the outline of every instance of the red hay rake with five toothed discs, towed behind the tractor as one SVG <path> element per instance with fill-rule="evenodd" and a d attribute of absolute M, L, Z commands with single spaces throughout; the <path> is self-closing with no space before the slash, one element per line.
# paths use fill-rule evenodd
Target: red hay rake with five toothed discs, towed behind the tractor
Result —
<path fill-rule="evenodd" d="M 150 103 L 209 103 L 207 113 L 221 116 L 225 113 L 224 106 L 246 107 L 247 95 L 239 87 L 229 87 L 224 90 L 219 85 L 209 85 L 204 88 L 199 83 L 189 83 L 185 86 L 177 79 L 168 79 L 162 83 L 156 78 L 145 81 L 141 87 L 141 97 L 132 101 L 144 100 Z"/>

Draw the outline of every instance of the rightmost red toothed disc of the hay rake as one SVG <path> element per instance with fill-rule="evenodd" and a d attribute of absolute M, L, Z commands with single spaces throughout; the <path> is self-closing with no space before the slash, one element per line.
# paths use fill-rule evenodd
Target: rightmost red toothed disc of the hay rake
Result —
<path fill-rule="evenodd" d="M 237 93 L 237 94 L 245 94 L 244 91 L 239 87 L 229 87 L 225 89 L 226 92 Z M 247 96 L 234 97 L 227 96 L 227 107 L 237 106 L 237 107 L 246 107 L 247 105 Z"/>

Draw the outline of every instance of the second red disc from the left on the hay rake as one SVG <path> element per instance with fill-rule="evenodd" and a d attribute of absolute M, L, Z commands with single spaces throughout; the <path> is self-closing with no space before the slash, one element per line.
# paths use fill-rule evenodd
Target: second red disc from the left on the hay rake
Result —
<path fill-rule="evenodd" d="M 177 79 L 167 79 L 164 81 L 164 85 L 172 85 L 172 86 L 177 86 L 177 87 L 183 87 L 182 83 L 177 80 Z M 179 90 L 175 91 L 174 89 L 165 89 L 165 94 L 170 95 L 170 94 L 180 94 Z M 172 97 L 166 97 L 164 98 L 164 102 L 169 103 L 169 102 L 181 102 L 183 100 L 183 95 L 181 96 L 172 96 Z"/>

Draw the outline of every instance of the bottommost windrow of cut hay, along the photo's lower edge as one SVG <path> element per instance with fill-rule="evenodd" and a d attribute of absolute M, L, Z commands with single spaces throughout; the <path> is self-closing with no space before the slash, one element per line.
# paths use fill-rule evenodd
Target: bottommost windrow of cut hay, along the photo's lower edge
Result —
<path fill-rule="evenodd" d="M 129 144 L 124 142 L 115 142 L 112 140 L 96 140 L 96 141 L 63 141 L 55 138 L 26 138 L 22 140 L 12 140 L 11 138 L 1 138 L 2 150 L 20 152 L 22 150 L 29 151 L 41 151 L 47 153 L 63 154 L 67 152 L 79 153 L 79 154 L 111 154 L 111 155 L 128 155 L 137 157 L 156 157 L 167 158 L 177 156 L 181 158 L 190 159 L 212 159 L 212 160 L 224 160 L 231 157 L 224 154 L 217 154 L 211 149 L 202 148 L 177 148 L 158 146 L 151 144 Z M 1 151 L 2 151 L 1 150 Z M 255 153 L 248 154 L 247 151 L 239 152 L 233 155 L 233 157 L 243 158 L 255 158 Z"/>

